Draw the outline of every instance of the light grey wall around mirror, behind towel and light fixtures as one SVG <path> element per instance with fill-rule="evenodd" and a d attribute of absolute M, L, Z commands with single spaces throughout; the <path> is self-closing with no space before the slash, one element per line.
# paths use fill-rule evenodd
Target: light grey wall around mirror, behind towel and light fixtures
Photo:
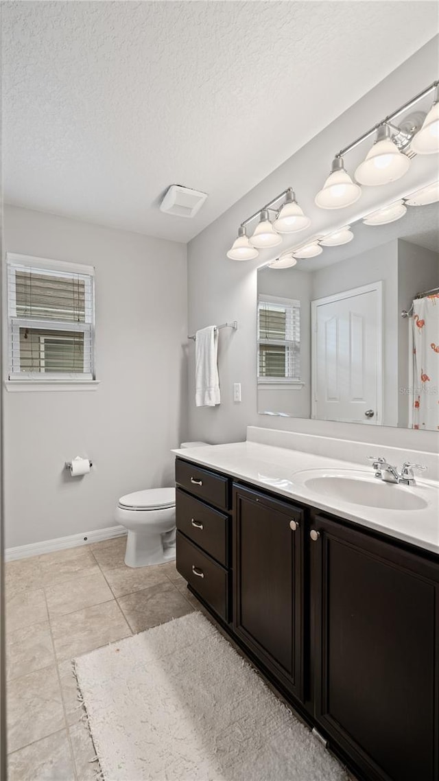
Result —
<path fill-rule="evenodd" d="M 435 78 L 437 78 L 437 38 L 403 63 L 398 70 L 391 73 L 188 244 L 190 333 L 209 323 L 223 323 L 227 319 L 237 319 L 239 323 L 237 332 L 227 330 L 220 332 L 219 379 L 222 403 L 219 407 L 195 408 L 194 355 L 193 349 L 191 350 L 189 362 L 191 438 L 212 442 L 243 440 L 246 426 L 252 424 L 269 428 L 326 433 L 328 436 L 335 437 L 352 437 L 376 441 L 378 444 L 387 442 L 408 448 L 426 450 L 437 448 L 437 435 L 434 432 L 415 432 L 386 427 L 379 430 L 378 426 L 258 415 L 255 383 L 257 268 L 269 260 L 269 255 L 265 251 L 261 253 L 259 259 L 250 262 L 236 262 L 226 257 L 226 252 L 237 234 L 237 227 L 241 221 L 288 186 L 294 187 L 302 209 L 312 217 L 312 231 L 324 232 L 330 227 L 335 227 L 334 214 L 322 209 L 318 210 L 313 205 L 314 196 L 329 173 L 334 154 L 392 109 L 409 100 L 412 95 L 416 95 Z M 294 132 L 294 122 L 305 121 L 304 109 L 305 107 L 300 106 L 291 107 L 291 132 Z M 249 132 L 251 132 L 251 122 L 249 122 Z M 274 137 L 275 133 L 276 128 L 273 127 Z M 356 164 L 365 155 L 366 148 L 367 146 L 362 145 L 362 148 L 357 148 L 347 157 L 346 162 L 350 170 L 355 169 Z M 362 209 L 371 211 L 377 208 L 380 202 L 384 203 L 400 197 L 407 187 L 415 190 L 416 187 L 422 186 L 426 180 L 426 172 L 432 165 L 427 157 L 428 155 L 424 155 L 424 159 L 421 160 L 418 156 L 412 162 L 411 169 L 403 180 L 387 187 L 371 187 L 369 192 L 365 191 L 358 205 L 343 210 L 343 215 L 339 218 L 340 224 L 359 217 Z M 380 193 L 377 194 L 376 190 L 380 190 Z M 374 198 L 381 198 L 381 201 L 374 201 Z M 301 234 L 301 239 L 306 237 L 305 232 L 303 237 Z M 287 246 L 288 244 L 285 243 L 283 248 Z M 398 350 L 397 344 L 395 349 Z M 234 382 L 241 382 L 241 404 L 233 401 Z"/>

